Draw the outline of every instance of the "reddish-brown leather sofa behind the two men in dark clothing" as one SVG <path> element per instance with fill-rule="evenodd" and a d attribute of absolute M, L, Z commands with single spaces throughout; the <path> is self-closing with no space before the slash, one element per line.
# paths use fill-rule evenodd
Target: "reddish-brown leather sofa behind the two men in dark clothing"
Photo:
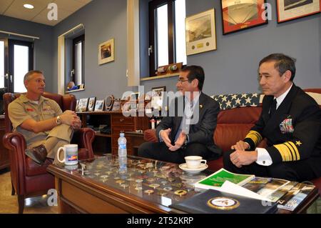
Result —
<path fill-rule="evenodd" d="M 321 89 L 305 89 L 305 91 L 321 94 Z M 245 106 L 220 111 L 218 114 L 218 125 L 213 137 L 215 144 L 223 152 L 230 150 L 230 147 L 235 142 L 244 139 L 246 134 L 248 134 L 250 128 L 258 121 L 261 110 L 261 106 Z M 157 142 L 155 130 L 146 130 L 144 132 L 144 139 L 147 142 Z M 266 142 L 263 140 L 259 147 L 265 146 Z M 216 171 L 223 167 L 223 159 L 220 157 L 220 159 L 209 161 L 207 164 L 208 169 Z M 321 194 L 321 177 L 312 180 L 312 182 L 319 188 L 319 193 Z"/>

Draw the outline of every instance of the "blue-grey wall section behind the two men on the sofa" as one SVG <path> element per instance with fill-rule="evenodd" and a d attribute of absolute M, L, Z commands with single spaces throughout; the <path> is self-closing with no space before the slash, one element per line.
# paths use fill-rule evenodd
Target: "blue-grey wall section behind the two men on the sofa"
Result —
<path fill-rule="evenodd" d="M 186 0 L 186 16 L 215 8 L 218 49 L 188 56 L 188 64 L 203 66 L 205 70 L 205 93 L 259 91 L 258 62 L 273 52 L 282 52 L 297 59 L 295 83 L 298 86 L 321 86 L 320 14 L 277 24 L 275 1 L 267 2 L 272 5 L 272 21 L 223 36 L 220 1 Z M 175 80 L 162 79 L 143 84 L 147 89 L 166 86 L 170 90 L 175 89 Z"/>

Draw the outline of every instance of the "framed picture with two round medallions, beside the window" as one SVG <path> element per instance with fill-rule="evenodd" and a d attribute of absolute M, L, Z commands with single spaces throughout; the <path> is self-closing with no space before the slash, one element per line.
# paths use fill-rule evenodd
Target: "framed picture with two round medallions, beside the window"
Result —
<path fill-rule="evenodd" d="M 215 11 L 210 9 L 185 19 L 186 54 L 216 50 Z"/>

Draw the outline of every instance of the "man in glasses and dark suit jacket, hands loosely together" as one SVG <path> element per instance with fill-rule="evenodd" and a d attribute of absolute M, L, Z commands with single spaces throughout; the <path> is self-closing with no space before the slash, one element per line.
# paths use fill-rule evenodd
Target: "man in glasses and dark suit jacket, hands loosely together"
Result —
<path fill-rule="evenodd" d="M 222 152 L 213 142 L 220 106 L 203 94 L 204 78 L 200 66 L 186 66 L 180 71 L 176 86 L 183 96 L 174 99 L 168 115 L 156 127 L 159 142 L 141 144 L 138 156 L 174 163 L 184 163 L 184 157 L 190 155 L 220 157 Z"/>

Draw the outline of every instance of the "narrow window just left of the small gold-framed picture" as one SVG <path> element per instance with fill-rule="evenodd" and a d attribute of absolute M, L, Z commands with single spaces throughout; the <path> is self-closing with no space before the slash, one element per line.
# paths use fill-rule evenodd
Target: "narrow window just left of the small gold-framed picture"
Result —
<path fill-rule="evenodd" d="M 85 35 L 81 35 L 73 39 L 73 70 L 72 80 L 75 85 L 84 84 L 84 45 Z"/>

